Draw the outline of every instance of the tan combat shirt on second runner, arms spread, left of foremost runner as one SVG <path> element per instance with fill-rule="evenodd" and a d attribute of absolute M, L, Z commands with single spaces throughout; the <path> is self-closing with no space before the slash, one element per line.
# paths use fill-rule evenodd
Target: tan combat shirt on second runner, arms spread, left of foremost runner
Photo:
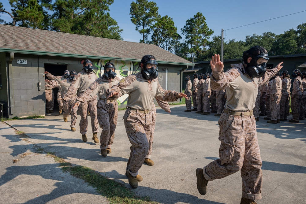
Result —
<path fill-rule="evenodd" d="M 149 83 L 141 72 L 121 79 L 117 85 L 106 91 L 106 94 L 109 95 L 113 91 L 119 93 L 118 96 L 112 97 L 113 100 L 123 94 L 129 94 L 127 107 L 139 110 L 151 110 L 155 97 L 160 97 L 162 101 L 177 101 L 179 98 L 178 92 L 162 89 L 158 80 L 154 79 Z"/>

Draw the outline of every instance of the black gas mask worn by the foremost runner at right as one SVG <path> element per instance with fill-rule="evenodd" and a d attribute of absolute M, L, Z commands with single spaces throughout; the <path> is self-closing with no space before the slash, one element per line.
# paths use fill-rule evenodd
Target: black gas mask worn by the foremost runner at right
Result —
<path fill-rule="evenodd" d="M 246 67 L 243 64 L 243 67 L 246 70 L 248 76 L 250 76 L 251 78 L 263 77 L 267 71 L 266 68 L 267 61 L 269 60 L 269 55 L 267 53 L 264 53 L 262 50 L 260 50 L 259 55 L 252 55 L 247 53 L 246 51 L 243 52 L 243 55 L 252 57 L 250 63 L 247 63 L 246 60 L 244 61 L 247 64 Z"/>

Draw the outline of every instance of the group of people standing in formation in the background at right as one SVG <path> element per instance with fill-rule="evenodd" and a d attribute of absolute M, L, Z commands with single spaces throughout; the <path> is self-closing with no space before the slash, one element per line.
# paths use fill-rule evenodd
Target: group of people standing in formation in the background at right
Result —
<path fill-rule="evenodd" d="M 267 123 L 272 124 L 287 121 L 287 116 L 290 115 L 290 107 L 293 118 L 289 122 L 298 123 L 300 120 L 305 119 L 306 91 L 304 90 L 306 89 L 306 72 L 296 69 L 291 77 L 294 79 L 293 83 L 291 83 L 287 70 L 278 72 L 276 76 L 271 77 L 269 81 L 258 87 L 253 109 L 256 121 L 259 121 L 260 116 L 266 116 L 264 119 L 268 120 Z M 215 116 L 221 116 L 226 101 L 226 90 L 211 89 L 209 73 L 201 73 L 200 75 L 195 73 L 192 83 L 190 76 L 187 76 L 185 81 L 187 82 L 185 93 L 192 93 L 192 98 L 188 97 L 185 100 L 187 108 L 185 112 L 196 111 L 196 113 L 201 113 L 202 115 L 217 113 Z M 291 87 L 292 94 L 290 92 Z M 214 105 L 214 100 L 216 105 Z M 193 109 L 191 109 L 192 102 Z"/>

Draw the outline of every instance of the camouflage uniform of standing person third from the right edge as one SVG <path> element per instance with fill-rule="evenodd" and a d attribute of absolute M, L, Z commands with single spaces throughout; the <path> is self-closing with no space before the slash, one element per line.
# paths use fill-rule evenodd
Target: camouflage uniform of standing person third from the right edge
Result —
<path fill-rule="evenodd" d="M 290 109 L 290 88 L 291 79 L 285 77 L 282 79 L 282 98 L 279 103 L 279 118 L 281 120 L 287 120 L 287 116 Z"/>

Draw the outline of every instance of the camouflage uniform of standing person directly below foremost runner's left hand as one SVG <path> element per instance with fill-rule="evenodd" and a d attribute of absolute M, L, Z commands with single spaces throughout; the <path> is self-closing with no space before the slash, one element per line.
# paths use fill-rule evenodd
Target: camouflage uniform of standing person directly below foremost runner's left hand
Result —
<path fill-rule="evenodd" d="M 279 76 L 275 76 L 272 80 L 271 92 L 270 92 L 270 109 L 271 109 L 271 120 L 279 120 L 279 103 L 282 97 L 282 80 Z"/>

